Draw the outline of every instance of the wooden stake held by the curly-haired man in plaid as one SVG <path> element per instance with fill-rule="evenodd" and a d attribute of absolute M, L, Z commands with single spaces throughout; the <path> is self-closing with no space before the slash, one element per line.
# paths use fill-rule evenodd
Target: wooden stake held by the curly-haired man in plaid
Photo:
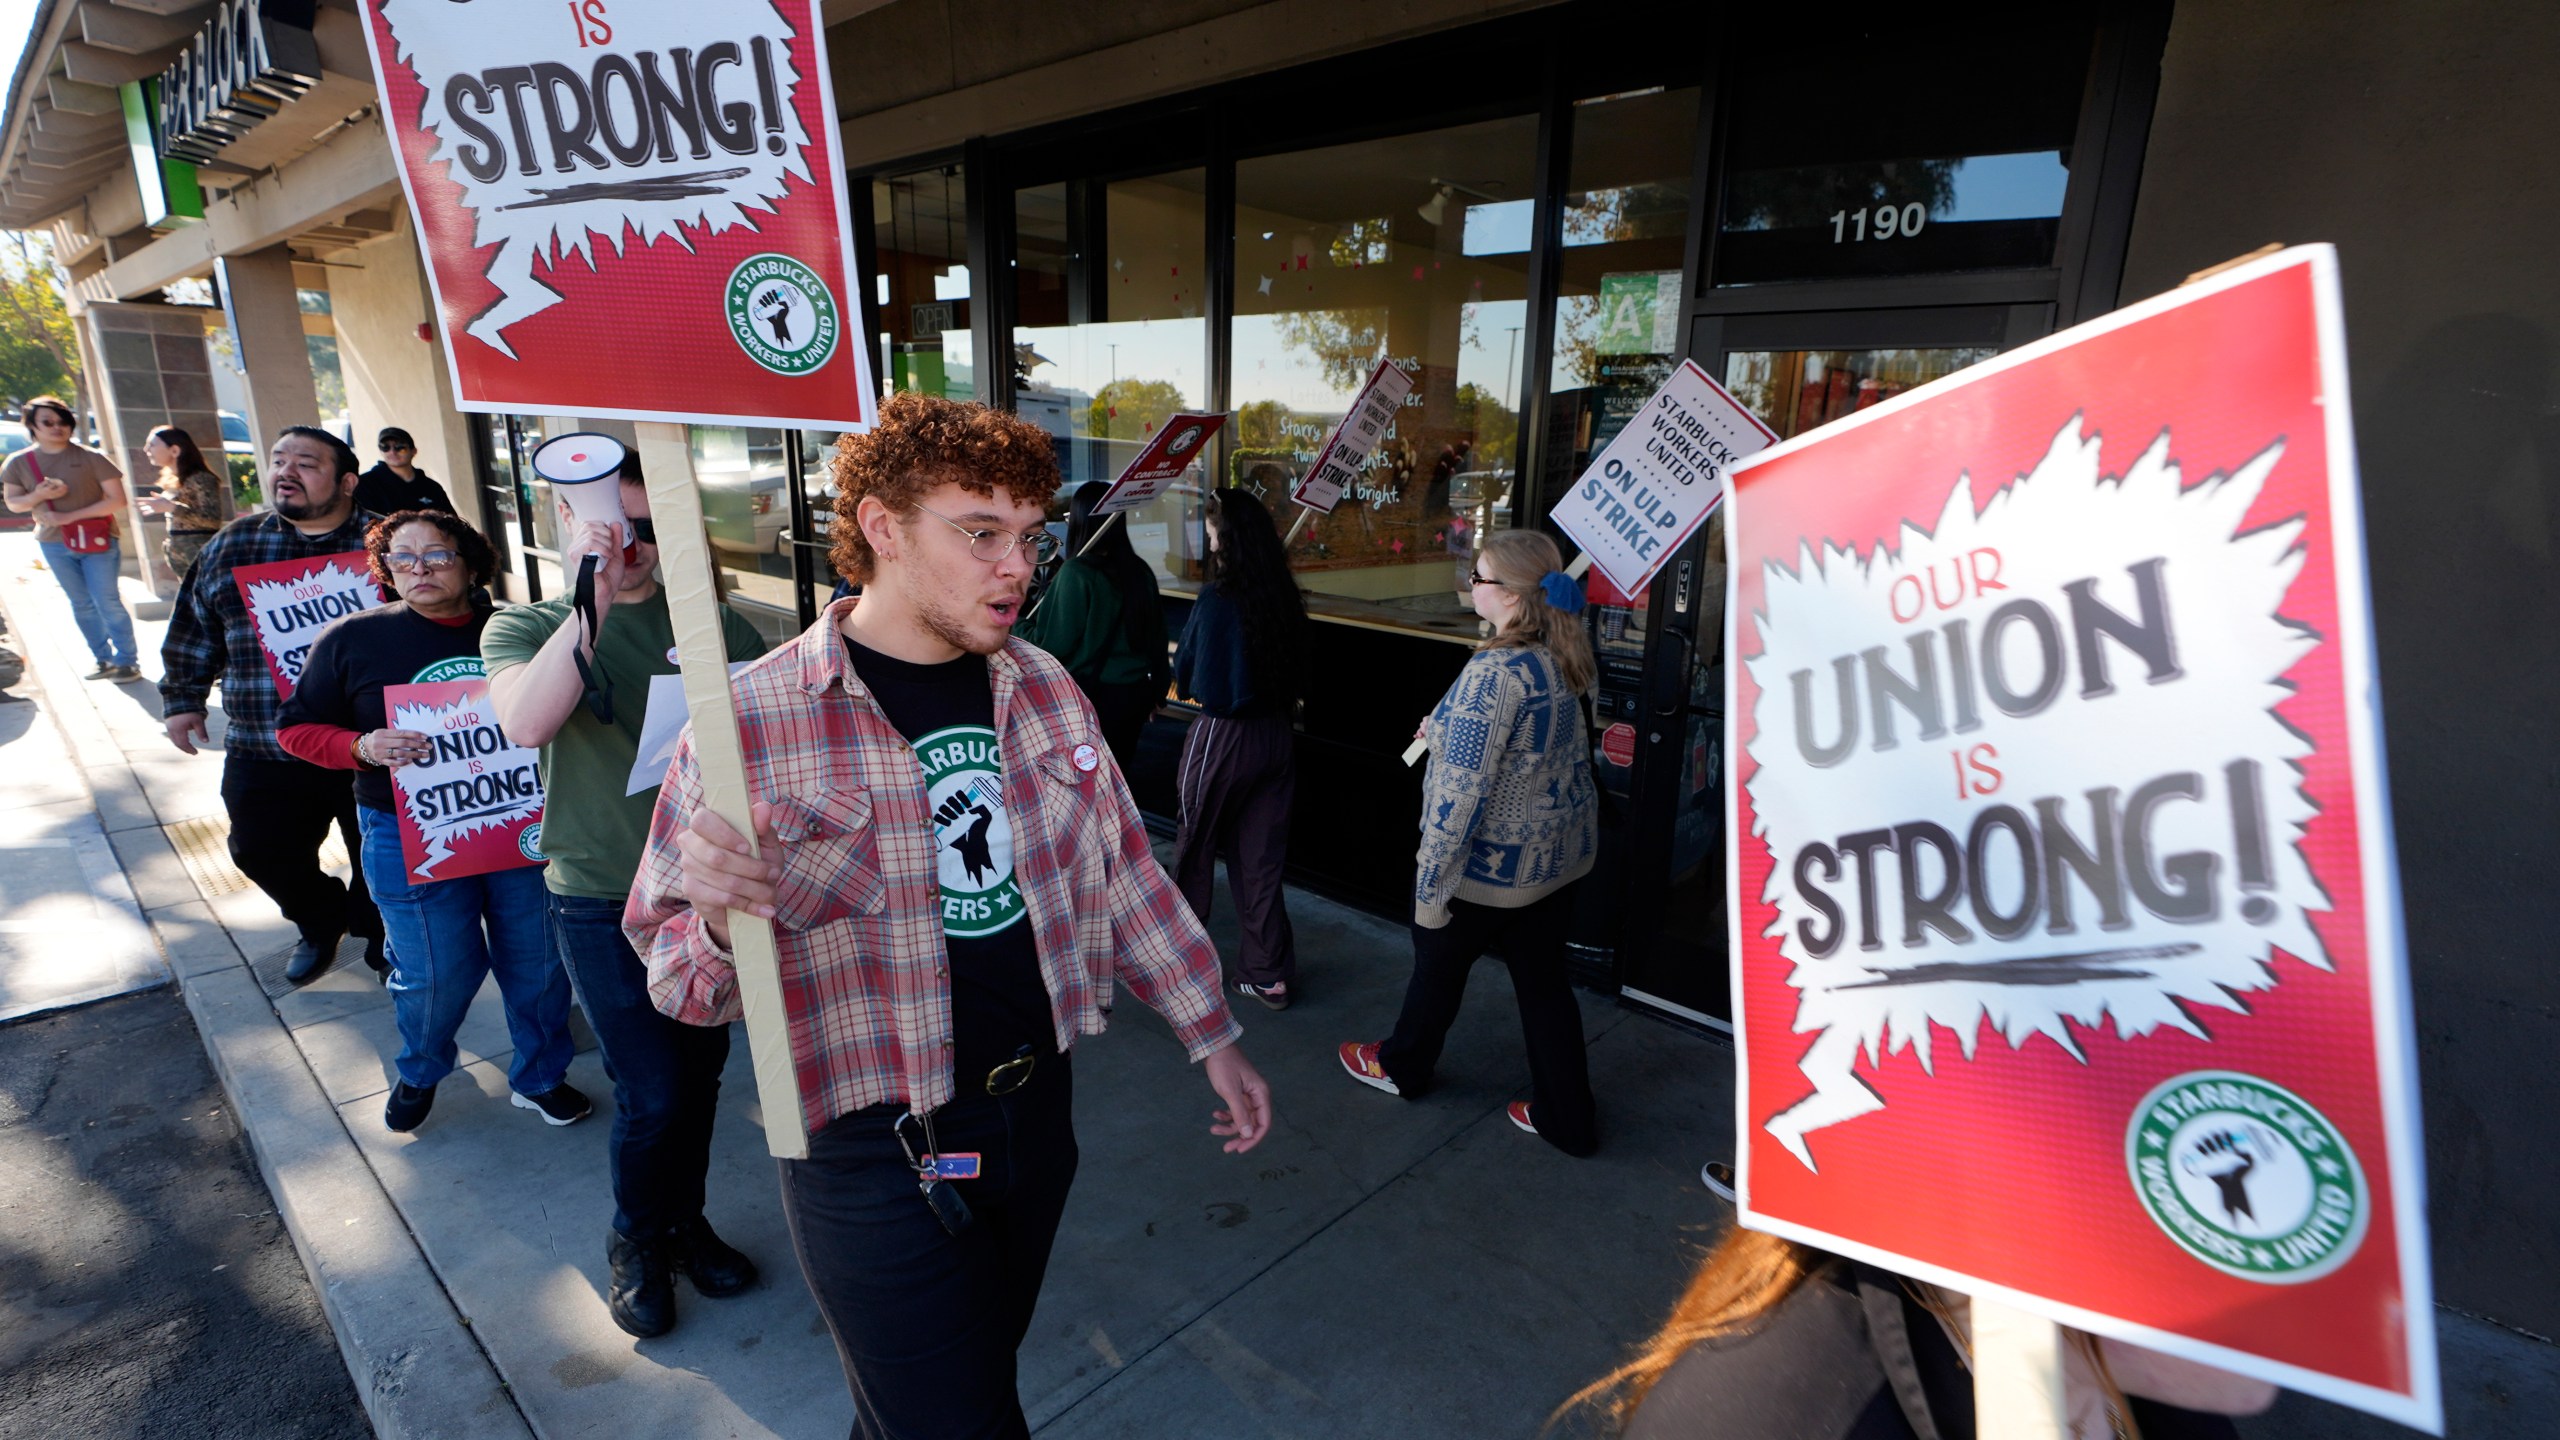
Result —
<path fill-rule="evenodd" d="M 684 425 L 640 420 L 640 464 L 648 469 L 650 518 L 658 523 L 658 564 L 666 577 L 666 612 L 676 625 L 684 666 L 684 707 L 694 720 L 694 761 L 701 769 L 701 805 L 748 835 L 748 753 L 737 740 L 737 705 L 730 700 L 730 641 L 719 620 L 709 530 L 701 492 L 694 489 L 694 448 Z M 783 1012 L 781 956 L 773 922 L 730 912 L 730 951 L 737 963 L 737 1002 L 748 1020 L 755 1061 L 755 1102 L 765 1112 L 765 1148 L 786 1161 L 809 1158 L 801 1122 L 799 1071 L 791 1068 L 791 1020 Z"/>

